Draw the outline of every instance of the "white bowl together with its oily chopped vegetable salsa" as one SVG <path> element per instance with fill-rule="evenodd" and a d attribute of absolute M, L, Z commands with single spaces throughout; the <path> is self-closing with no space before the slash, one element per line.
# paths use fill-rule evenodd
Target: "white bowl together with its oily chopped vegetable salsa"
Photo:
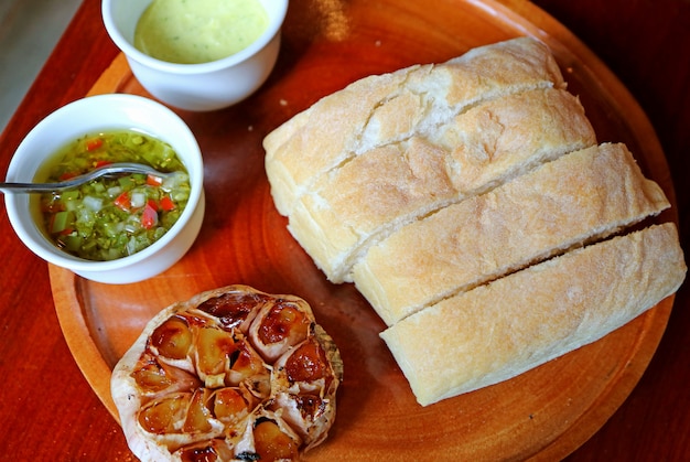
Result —
<path fill-rule="evenodd" d="M 15 233 L 39 257 L 97 282 L 138 282 L 165 271 L 193 245 L 205 206 L 198 143 L 165 106 L 133 95 L 74 101 L 31 130 L 7 180 L 53 181 L 101 161 L 137 161 L 180 173 L 165 186 L 129 176 L 98 180 L 63 193 L 66 197 L 7 194 Z"/>

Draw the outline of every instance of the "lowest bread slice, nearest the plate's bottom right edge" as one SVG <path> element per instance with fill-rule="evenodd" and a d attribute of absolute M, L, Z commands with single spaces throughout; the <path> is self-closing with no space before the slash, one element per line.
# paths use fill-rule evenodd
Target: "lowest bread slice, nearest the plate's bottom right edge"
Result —
<path fill-rule="evenodd" d="M 673 293 L 686 270 L 676 226 L 653 226 L 444 300 L 381 337 L 427 406 L 603 337 Z"/>

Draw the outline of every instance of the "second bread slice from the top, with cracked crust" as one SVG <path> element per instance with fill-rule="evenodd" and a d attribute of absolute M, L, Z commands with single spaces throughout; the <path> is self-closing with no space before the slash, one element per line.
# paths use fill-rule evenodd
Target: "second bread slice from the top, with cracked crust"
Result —
<path fill-rule="evenodd" d="M 324 174 L 297 201 L 289 229 L 331 281 L 352 281 L 366 249 L 402 225 L 595 143 L 570 93 L 507 95 Z"/>

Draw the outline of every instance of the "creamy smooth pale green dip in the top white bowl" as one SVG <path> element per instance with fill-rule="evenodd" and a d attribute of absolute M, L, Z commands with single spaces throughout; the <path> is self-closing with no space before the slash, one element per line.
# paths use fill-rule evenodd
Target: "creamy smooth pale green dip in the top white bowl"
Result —
<path fill-rule="evenodd" d="M 267 26 L 258 0 L 153 0 L 137 23 L 134 46 L 171 63 L 208 63 L 246 49 Z"/>

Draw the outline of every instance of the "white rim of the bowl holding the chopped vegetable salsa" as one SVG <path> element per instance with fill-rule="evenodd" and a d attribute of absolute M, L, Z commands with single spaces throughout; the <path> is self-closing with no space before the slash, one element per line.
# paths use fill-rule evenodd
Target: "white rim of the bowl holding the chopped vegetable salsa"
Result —
<path fill-rule="evenodd" d="M 33 180 L 33 176 L 36 174 L 36 170 L 39 169 L 39 165 L 41 165 L 42 162 L 39 162 L 39 165 L 36 165 L 36 170 L 34 170 L 33 174 L 31 175 L 32 178 L 29 178 L 26 173 L 23 173 L 20 170 L 20 166 L 23 163 L 23 158 L 24 158 L 25 152 L 29 152 L 31 144 L 34 143 L 34 139 L 40 138 L 44 130 L 50 129 L 51 126 L 53 126 L 54 123 L 56 123 L 58 120 L 63 119 L 64 117 L 69 117 L 74 112 L 82 111 L 85 108 L 91 107 L 93 105 L 99 105 L 99 104 L 100 105 L 103 104 L 121 105 L 123 107 L 125 105 L 127 105 L 127 106 L 133 106 L 137 108 L 145 108 L 149 111 L 157 111 L 158 114 L 165 116 L 166 121 L 171 121 L 175 123 L 175 127 L 176 127 L 175 130 L 183 138 L 183 144 L 185 146 L 185 148 L 191 148 L 192 150 L 191 155 L 186 157 L 185 159 L 182 159 L 182 158 L 180 159 L 185 164 L 185 166 L 187 168 L 187 172 L 190 173 L 191 194 L 190 194 L 190 201 L 187 202 L 187 205 L 185 206 L 185 209 L 182 212 L 182 215 L 180 216 L 180 218 L 177 218 L 175 224 L 160 239 L 158 239 L 157 241 L 151 244 L 149 247 L 136 254 L 132 254 L 122 258 L 118 258 L 115 260 L 106 260 L 106 261 L 86 260 L 86 259 L 73 256 L 57 248 L 55 244 L 50 239 L 50 237 L 47 237 L 45 233 L 41 229 L 40 225 L 35 223 L 33 215 L 31 213 L 28 213 L 26 209 L 24 209 L 24 205 L 29 203 L 29 197 L 22 196 L 21 194 L 7 194 L 6 195 L 6 208 L 8 212 L 8 217 L 12 225 L 12 228 L 14 229 L 14 233 L 19 236 L 21 241 L 31 251 L 33 251 L 36 256 L 44 259 L 45 261 L 48 261 L 51 264 L 57 265 L 63 268 L 72 269 L 75 272 L 76 271 L 111 271 L 111 270 L 117 270 L 117 269 L 123 269 L 127 267 L 131 267 L 140 261 L 143 261 L 147 258 L 152 257 L 153 255 L 157 255 L 159 251 L 163 250 L 173 239 L 175 239 L 183 232 L 184 227 L 193 217 L 195 208 L 200 204 L 200 201 L 203 200 L 204 162 L 203 162 L 202 151 L 198 146 L 198 142 L 196 141 L 196 138 L 194 137 L 194 133 L 192 132 L 190 127 L 180 116 L 177 116 L 175 112 L 173 112 L 170 108 L 165 107 L 164 105 L 158 101 L 154 101 L 152 99 L 142 97 L 142 96 L 127 95 L 127 94 L 107 94 L 107 95 L 87 96 L 85 98 L 80 98 L 75 101 L 72 101 L 56 109 L 55 111 L 51 112 L 48 116 L 42 119 L 24 137 L 22 142 L 19 144 L 19 147 L 14 151 L 14 154 L 12 155 L 12 159 L 8 166 L 7 181 Z M 94 131 L 98 131 L 99 129 L 101 130 L 114 130 L 114 129 L 127 130 L 127 128 L 125 128 L 127 123 L 115 126 L 112 123 L 104 122 L 104 123 L 95 123 L 95 126 L 100 126 L 100 128 L 94 127 L 93 129 L 89 129 L 87 132 L 84 132 L 83 135 L 93 133 Z M 138 128 L 132 126 L 131 122 L 129 123 L 129 126 L 130 126 L 129 130 L 141 131 L 149 136 L 161 139 L 161 137 L 158 133 L 153 133 L 150 130 L 138 130 Z M 75 135 L 75 136 L 78 136 L 78 135 Z M 165 141 L 168 142 L 168 140 Z M 177 151 L 177 148 L 176 147 L 174 148 L 175 148 L 175 151 Z M 55 149 L 58 149 L 58 147 L 55 147 Z M 54 150 L 48 151 L 48 153 L 54 152 Z M 198 168 L 195 169 L 195 171 L 192 171 L 190 169 L 191 162 L 194 162 L 195 164 L 198 163 Z M 31 226 L 32 226 L 31 229 L 29 229 L 26 225 L 29 222 L 31 223 Z M 35 236 L 41 236 L 41 238 L 36 239 Z"/>

